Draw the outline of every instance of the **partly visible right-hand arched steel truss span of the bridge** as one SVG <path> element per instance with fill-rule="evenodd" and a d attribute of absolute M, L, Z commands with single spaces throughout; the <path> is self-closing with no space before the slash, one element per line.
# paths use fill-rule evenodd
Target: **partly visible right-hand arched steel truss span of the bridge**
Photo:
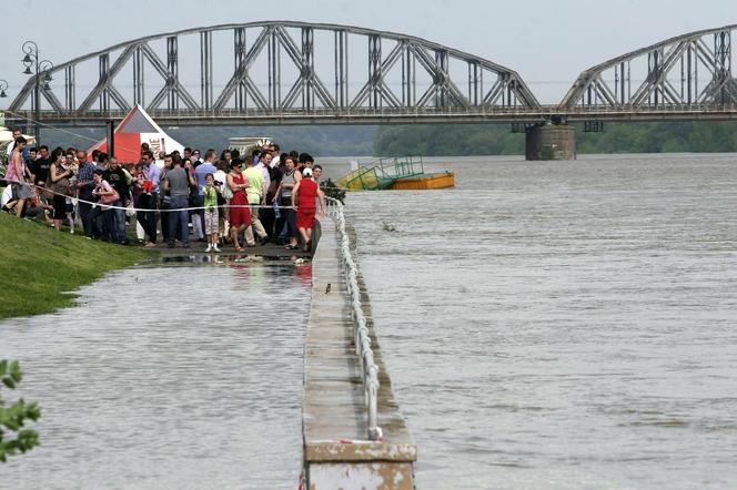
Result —
<path fill-rule="evenodd" d="M 737 24 L 677 35 L 583 71 L 559 104 L 667 112 L 737 104 L 731 37 Z"/>

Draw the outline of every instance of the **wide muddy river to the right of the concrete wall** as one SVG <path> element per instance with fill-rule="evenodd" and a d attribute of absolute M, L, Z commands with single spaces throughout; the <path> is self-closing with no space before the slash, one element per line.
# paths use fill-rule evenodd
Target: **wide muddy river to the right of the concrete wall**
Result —
<path fill-rule="evenodd" d="M 346 200 L 417 488 L 737 488 L 737 155 L 427 166 Z"/>

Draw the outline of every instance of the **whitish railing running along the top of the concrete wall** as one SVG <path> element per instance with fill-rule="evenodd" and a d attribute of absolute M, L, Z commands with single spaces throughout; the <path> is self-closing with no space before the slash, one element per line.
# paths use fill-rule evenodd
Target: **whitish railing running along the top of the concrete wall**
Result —
<path fill-rule="evenodd" d="M 382 438 L 382 429 L 377 426 L 378 411 L 378 367 L 374 363 L 374 351 L 371 348 L 371 337 L 366 317 L 363 314 L 361 303 L 361 287 L 359 286 L 359 266 L 351 255 L 351 241 L 345 231 L 345 216 L 343 204 L 332 197 L 325 198 L 327 214 L 335 221 L 337 227 L 337 239 L 340 242 L 340 254 L 345 267 L 345 283 L 351 302 L 351 316 L 353 319 L 353 340 L 355 344 L 359 365 L 361 366 L 361 379 L 364 389 L 364 402 L 366 406 L 366 421 L 368 426 L 368 439 L 376 441 Z"/>

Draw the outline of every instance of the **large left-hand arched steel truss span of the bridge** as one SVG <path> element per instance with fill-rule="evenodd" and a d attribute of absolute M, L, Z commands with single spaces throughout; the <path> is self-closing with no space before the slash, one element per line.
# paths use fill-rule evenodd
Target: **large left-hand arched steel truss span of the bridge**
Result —
<path fill-rule="evenodd" d="M 215 57 L 222 59 L 213 39 L 222 32 L 233 35 L 230 74 L 213 70 L 213 65 L 222 68 L 213 62 Z M 331 33 L 332 44 L 319 41 L 319 32 Z M 199 57 L 194 54 L 192 60 L 181 51 L 185 43 L 180 39 L 188 35 L 199 38 Z M 367 40 L 366 54 L 349 51 L 349 39 L 355 37 Z M 728 42 L 720 45 L 730 52 Z M 366 55 L 367 73 L 355 69 L 361 63 L 351 62 L 356 55 Z M 199 58 L 199 70 L 194 58 Z M 715 54 L 714 59 L 723 71 L 730 70 L 728 57 Z M 85 71 L 78 68 L 95 61 L 98 78 L 89 89 L 89 81 L 81 80 Z M 334 90 L 319 74 L 319 69 L 331 65 Z M 463 67 L 461 75 L 454 65 Z M 248 120 L 252 110 L 274 119 L 329 111 L 336 120 L 346 115 L 352 121 L 356 116 L 368 121 L 384 118 L 386 111 L 412 119 L 417 112 L 539 108 L 516 72 L 492 61 L 412 35 L 326 23 L 262 21 L 185 29 L 115 44 L 57 64 L 50 74 L 53 72 L 63 73 L 64 85 L 60 96 L 54 88 L 41 91 L 43 122 L 102 121 L 135 104 L 169 121 L 189 120 L 193 113 L 203 121 Z M 122 80 L 124 72 L 132 72 L 132 88 Z M 223 75 L 228 82 L 219 85 L 215 76 Z M 256 75 L 265 75 L 267 86 Z M 354 89 L 349 81 L 355 83 Z M 462 90 L 466 84 L 467 91 Z M 34 85 L 32 76 L 10 104 L 9 120 L 32 116 L 29 105 Z M 199 98 L 193 95 L 196 92 Z"/>

